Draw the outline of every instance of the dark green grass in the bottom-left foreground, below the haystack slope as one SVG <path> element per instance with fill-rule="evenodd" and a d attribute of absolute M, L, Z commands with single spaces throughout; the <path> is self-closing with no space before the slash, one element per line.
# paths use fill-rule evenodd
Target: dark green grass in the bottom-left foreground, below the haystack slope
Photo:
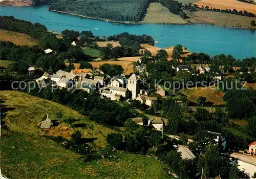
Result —
<path fill-rule="evenodd" d="M 167 178 L 164 166 L 143 155 L 116 154 L 81 163 L 80 155 L 35 135 L 9 133 L 0 139 L 2 174 L 8 178 Z"/>

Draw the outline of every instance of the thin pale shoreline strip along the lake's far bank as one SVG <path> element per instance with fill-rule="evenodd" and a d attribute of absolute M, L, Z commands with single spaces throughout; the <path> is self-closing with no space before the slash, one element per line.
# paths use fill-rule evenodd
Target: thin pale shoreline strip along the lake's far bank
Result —
<path fill-rule="evenodd" d="M 116 20 L 109 20 L 109 19 L 98 18 L 98 17 L 89 17 L 89 16 L 85 16 L 85 15 L 79 15 L 79 14 L 74 14 L 74 13 L 64 12 L 64 11 L 50 10 L 49 8 L 48 8 L 48 11 L 61 13 L 61 14 L 74 15 L 74 16 L 78 16 L 78 17 L 82 17 L 82 18 L 106 21 L 106 22 L 113 23 L 114 25 L 115 25 L 115 23 L 116 23 L 116 25 L 119 25 L 119 24 L 127 24 L 127 25 L 142 25 L 142 24 L 153 24 L 154 25 L 155 24 L 155 25 L 179 25 L 179 26 L 182 26 L 182 25 L 183 26 L 186 26 L 186 25 L 209 25 L 209 26 L 216 26 L 216 27 L 222 27 L 222 28 L 247 29 L 247 30 L 253 30 L 253 31 L 256 30 L 254 28 L 221 26 L 221 25 L 208 24 L 208 23 L 189 23 L 189 22 L 187 22 L 186 24 L 179 24 L 179 23 L 143 23 L 143 21 L 139 21 L 139 22 L 116 21 Z"/>

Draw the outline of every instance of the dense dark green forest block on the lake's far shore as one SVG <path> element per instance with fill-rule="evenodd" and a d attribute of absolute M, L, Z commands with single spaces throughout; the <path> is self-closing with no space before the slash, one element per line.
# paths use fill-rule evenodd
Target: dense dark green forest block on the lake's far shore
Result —
<path fill-rule="evenodd" d="M 49 10 L 117 21 L 140 21 L 149 3 L 150 0 L 60 0 L 50 5 Z"/>

